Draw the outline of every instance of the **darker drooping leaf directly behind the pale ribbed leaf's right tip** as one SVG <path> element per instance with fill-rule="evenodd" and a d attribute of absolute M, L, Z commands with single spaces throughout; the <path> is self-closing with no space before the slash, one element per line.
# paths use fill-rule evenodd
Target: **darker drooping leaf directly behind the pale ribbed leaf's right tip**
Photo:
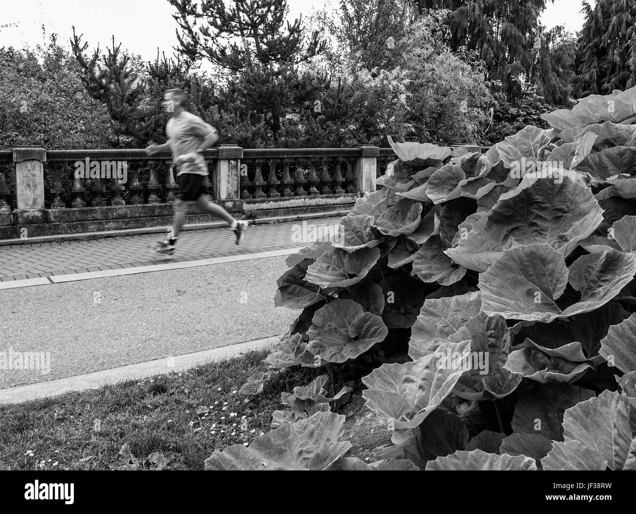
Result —
<path fill-rule="evenodd" d="M 523 377 L 521 373 L 504 368 L 510 351 L 510 331 L 506 320 L 480 312 L 450 337 L 452 342 L 466 339 L 471 340 L 470 368 L 459 379 L 453 392 L 461 398 L 481 400 L 503 398 L 515 391 Z M 439 349 L 435 354 L 439 355 Z M 446 357 L 445 362 L 449 360 Z"/>

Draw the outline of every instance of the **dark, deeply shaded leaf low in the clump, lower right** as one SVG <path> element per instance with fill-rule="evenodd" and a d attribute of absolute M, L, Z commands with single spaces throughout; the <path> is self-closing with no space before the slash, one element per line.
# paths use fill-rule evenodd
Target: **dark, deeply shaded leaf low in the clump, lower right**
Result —
<path fill-rule="evenodd" d="M 594 396 L 594 391 L 571 384 L 537 384 L 520 394 L 512 420 L 513 430 L 563 441 L 565 410 Z"/>

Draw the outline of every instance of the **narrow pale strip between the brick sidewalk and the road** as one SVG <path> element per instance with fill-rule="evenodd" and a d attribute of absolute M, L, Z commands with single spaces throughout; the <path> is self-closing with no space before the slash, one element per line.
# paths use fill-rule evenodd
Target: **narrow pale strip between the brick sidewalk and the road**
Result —
<path fill-rule="evenodd" d="M 223 264 L 236 261 L 249 261 L 252 259 L 264 259 L 268 257 L 279 257 L 297 253 L 303 247 L 286 248 L 282 250 L 272 250 L 259 253 L 245 253 L 231 255 L 229 257 L 214 257 L 198 261 L 168 262 L 153 264 L 150 266 L 137 266 L 132 268 L 121 268 L 117 270 L 93 271 L 86 273 L 71 273 L 68 275 L 53 275 L 51 277 L 39 277 L 37 279 L 25 279 L 19 281 L 0 282 L 0 289 L 25 288 L 28 286 L 43 286 L 45 284 L 61 284 L 62 282 L 75 282 L 78 280 L 101 279 L 104 277 L 118 277 L 120 275 L 136 275 L 138 273 L 149 273 L 155 271 L 178 270 L 182 268 L 195 268 L 198 266 L 208 266 L 211 264 Z"/>

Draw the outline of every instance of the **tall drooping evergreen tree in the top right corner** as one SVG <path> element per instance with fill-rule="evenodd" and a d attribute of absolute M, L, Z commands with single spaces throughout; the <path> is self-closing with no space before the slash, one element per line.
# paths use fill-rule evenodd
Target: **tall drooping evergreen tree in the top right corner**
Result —
<path fill-rule="evenodd" d="M 583 3 L 579 34 L 576 94 L 610 94 L 636 84 L 636 0 Z"/>

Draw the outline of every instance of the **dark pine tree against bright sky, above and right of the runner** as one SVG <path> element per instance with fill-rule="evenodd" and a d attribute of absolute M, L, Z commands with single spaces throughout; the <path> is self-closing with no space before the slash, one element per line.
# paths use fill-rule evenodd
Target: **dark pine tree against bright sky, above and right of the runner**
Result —
<path fill-rule="evenodd" d="M 255 122 L 263 118 L 276 142 L 282 118 L 315 97 L 315 90 L 300 87 L 298 66 L 324 50 L 317 32 L 305 34 L 302 20 L 285 27 L 284 0 L 169 2 L 182 31 L 176 50 L 191 62 L 207 59 L 230 72 L 219 101 Z"/>

